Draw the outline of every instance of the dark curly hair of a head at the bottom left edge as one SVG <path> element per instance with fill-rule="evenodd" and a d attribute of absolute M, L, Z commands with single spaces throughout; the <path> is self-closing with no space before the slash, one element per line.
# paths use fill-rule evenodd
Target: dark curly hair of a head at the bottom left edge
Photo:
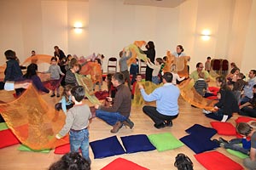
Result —
<path fill-rule="evenodd" d="M 90 162 L 79 152 L 69 152 L 53 163 L 49 170 L 90 170 Z"/>

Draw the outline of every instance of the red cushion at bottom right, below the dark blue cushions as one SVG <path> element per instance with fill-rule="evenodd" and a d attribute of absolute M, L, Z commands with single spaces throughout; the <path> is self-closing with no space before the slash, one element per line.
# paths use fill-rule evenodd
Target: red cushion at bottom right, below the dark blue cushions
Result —
<path fill-rule="evenodd" d="M 210 151 L 195 155 L 195 159 L 201 163 L 207 170 L 241 170 L 240 164 L 224 156 L 218 151 Z"/>

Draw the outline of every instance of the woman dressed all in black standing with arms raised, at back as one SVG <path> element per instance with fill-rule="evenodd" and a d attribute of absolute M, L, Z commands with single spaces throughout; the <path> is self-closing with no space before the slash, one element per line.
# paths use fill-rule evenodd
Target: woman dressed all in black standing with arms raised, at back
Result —
<path fill-rule="evenodd" d="M 146 51 L 143 51 L 144 54 L 146 54 L 147 57 L 148 57 L 148 59 L 150 59 L 150 61 L 151 61 L 152 63 L 154 63 L 154 58 L 155 58 L 154 42 L 149 41 L 149 42 L 146 44 L 145 47 L 147 48 L 147 50 L 146 50 Z M 153 72 L 153 69 L 151 69 L 151 68 L 148 67 L 148 65 L 147 65 L 147 67 L 146 67 L 146 78 L 145 78 L 146 81 L 152 82 L 152 72 Z"/>

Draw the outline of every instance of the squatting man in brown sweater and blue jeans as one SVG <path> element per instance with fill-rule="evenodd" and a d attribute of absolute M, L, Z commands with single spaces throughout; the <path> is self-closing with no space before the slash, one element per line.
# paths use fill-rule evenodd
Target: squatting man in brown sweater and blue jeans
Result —
<path fill-rule="evenodd" d="M 108 107 L 104 105 L 95 105 L 96 116 L 109 125 L 113 126 L 111 133 L 119 132 L 119 129 L 125 124 L 132 128 L 134 123 L 129 119 L 131 112 L 131 90 L 125 86 L 125 76 L 116 72 L 113 74 L 111 82 L 113 87 L 117 89 L 114 99 L 108 97 L 108 101 L 113 105 Z"/>

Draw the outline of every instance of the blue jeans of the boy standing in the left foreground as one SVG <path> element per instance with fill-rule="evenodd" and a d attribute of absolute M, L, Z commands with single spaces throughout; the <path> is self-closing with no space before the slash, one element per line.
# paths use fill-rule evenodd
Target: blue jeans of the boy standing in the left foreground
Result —
<path fill-rule="evenodd" d="M 82 156 L 90 161 L 89 157 L 89 132 L 85 128 L 81 131 L 74 132 L 69 131 L 69 142 L 70 142 L 70 151 L 79 152 L 79 149 L 82 151 Z"/>

